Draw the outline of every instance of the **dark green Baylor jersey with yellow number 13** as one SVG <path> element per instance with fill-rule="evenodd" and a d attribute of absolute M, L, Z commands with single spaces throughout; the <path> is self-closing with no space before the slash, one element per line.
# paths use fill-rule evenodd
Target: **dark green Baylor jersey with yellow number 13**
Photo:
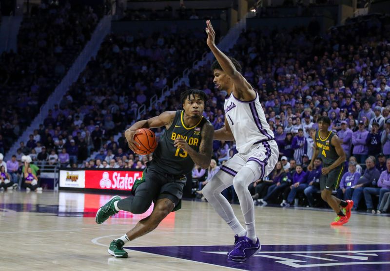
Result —
<path fill-rule="evenodd" d="M 208 120 L 202 117 L 195 126 L 186 127 L 183 115 L 183 110 L 176 111 L 172 125 L 161 136 L 160 142 L 153 153 L 151 165 L 159 172 L 171 175 L 185 175 L 191 172 L 194 167 L 194 161 L 192 161 L 188 153 L 174 146 L 175 139 L 177 137 L 185 138 L 188 145 L 198 152 L 200 141 L 202 140 L 202 128 Z"/>

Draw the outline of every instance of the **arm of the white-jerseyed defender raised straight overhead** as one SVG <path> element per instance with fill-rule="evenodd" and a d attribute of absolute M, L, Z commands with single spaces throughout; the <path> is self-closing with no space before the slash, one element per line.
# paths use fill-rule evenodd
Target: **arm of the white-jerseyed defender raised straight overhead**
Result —
<path fill-rule="evenodd" d="M 222 70 L 231 78 L 234 83 L 234 90 L 240 92 L 245 100 L 252 100 L 255 97 L 255 92 L 248 81 L 242 76 L 240 72 L 234 67 L 233 62 L 229 57 L 222 53 L 215 45 L 215 31 L 211 25 L 210 20 L 206 21 L 207 45 L 213 52 L 216 60 L 221 66 Z M 233 91 L 234 91 L 233 90 Z"/>

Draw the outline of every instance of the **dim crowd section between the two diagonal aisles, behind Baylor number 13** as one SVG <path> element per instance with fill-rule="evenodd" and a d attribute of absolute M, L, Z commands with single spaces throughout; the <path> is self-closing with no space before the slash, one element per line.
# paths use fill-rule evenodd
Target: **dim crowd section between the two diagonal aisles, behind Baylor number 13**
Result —
<path fill-rule="evenodd" d="M 193 50 L 186 49 L 189 44 Z M 43 124 L 26 143 L 20 142 L 17 156 L 29 154 L 33 161 L 68 166 L 83 164 L 101 149 L 105 154 L 112 150 L 115 155 L 128 155 L 128 146 L 123 140 L 114 143 L 114 136 L 137 119 L 139 106 L 172 85 L 174 77 L 190 67 L 205 47 L 196 33 L 178 33 L 176 29 L 164 36 L 107 36 L 96 59 L 91 59 L 59 104 L 49 110 Z M 169 100 L 159 106 L 168 108 Z"/>

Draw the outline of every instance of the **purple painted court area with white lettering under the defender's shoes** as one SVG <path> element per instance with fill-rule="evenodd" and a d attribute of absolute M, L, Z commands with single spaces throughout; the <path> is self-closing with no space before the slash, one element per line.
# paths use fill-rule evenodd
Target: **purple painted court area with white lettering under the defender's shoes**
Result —
<path fill-rule="evenodd" d="M 218 266 L 251 271 L 384 271 L 390 270 L 390 245 L 264 245 L 243 263 L 230 261 L 233 246 L 126 247 Z M 131 257 L 131 252 L 129 253 Z M 210 269 L 212 267 L 210 266 Z"/>

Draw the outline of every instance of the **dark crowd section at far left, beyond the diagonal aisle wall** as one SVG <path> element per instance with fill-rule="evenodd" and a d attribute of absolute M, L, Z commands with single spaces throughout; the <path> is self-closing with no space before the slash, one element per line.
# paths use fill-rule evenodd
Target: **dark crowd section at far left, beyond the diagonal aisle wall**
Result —
<path fill-rule="evenodd" d="M 18 52 L 0 55 L 0 149 L 7 150 L 31 123 L 102 16 L 88 6 L 48 2 L 23 16 Z"/>

